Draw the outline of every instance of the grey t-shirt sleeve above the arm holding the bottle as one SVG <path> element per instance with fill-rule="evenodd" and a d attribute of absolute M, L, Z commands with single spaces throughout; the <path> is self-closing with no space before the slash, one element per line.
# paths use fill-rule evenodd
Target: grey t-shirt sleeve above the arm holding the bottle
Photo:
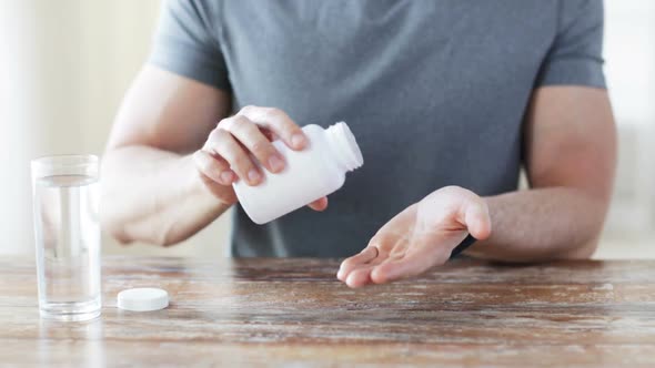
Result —
<path fill-rule="evenodd" d="M 202 83 L 230 90 L 228 68 L 218 41 L 219 19 L 196 0 L 162 3 L 149 63 Z"/>

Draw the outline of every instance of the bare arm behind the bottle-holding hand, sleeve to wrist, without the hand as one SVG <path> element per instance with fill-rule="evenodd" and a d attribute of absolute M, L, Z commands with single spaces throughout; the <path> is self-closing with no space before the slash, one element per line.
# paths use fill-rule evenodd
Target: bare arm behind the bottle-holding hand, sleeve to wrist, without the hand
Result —
<path fill-rule="evenodd" d="M 228 116 L 228 92 L 145 65 L 128 91 L 102 165 L 102 223 L 123 243 L 178 243 L 228 207 L 192 153 Z"/>

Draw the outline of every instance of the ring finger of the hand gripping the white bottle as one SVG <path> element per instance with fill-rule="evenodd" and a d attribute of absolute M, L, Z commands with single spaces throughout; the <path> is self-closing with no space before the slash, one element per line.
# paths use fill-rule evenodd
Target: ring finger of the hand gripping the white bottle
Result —
<path fill-rule="evenodd" d="M 250 159 L 250 155 L 228 131 L 215 129 L 205 143 L 205 150 L 223 157 L 239 178 L 249 185 L 256 185 L 262 181 L 262 174 Z"/>

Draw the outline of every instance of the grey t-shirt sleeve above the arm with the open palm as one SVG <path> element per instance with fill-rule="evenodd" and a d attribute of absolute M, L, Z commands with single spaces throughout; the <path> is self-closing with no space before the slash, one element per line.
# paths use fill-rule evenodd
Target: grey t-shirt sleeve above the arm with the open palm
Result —
<path fill-rule="evenodd" d="M 536 86 L 605 88 L 603 1 L 561 0 L 557 34 L 542 64 Z"/>

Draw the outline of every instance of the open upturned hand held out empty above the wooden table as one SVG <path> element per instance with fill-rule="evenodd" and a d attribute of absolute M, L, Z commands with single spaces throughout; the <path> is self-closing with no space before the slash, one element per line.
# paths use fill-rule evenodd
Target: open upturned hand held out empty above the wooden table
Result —
<path fill-rule="evenodd" d="M 491 234 L 486 202 L 471 191 L 446 186 L 387 222 L 359 254 L 346 258 L 337 278 L 350 287 L 383 284 L 444 264 L 468 234 Z"/>

